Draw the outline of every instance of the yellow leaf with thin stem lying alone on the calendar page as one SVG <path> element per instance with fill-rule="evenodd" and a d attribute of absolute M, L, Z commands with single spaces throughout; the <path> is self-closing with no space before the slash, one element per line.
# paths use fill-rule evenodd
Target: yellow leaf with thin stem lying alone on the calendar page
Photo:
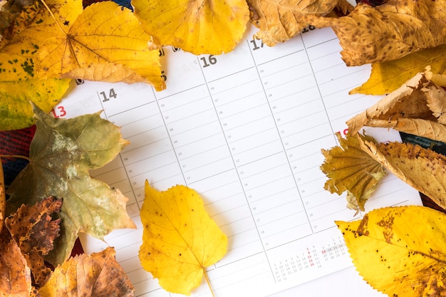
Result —
<path fill-rule="evenodd" d="M 204 269 L 227 252 L 227 236 L 209 217 L 199 194 L 188 187 L 158 192 L 146 181 L 141 221 L 142 267 L 167 291 L 190 295 L 203 274 L 207 279 Z"/>

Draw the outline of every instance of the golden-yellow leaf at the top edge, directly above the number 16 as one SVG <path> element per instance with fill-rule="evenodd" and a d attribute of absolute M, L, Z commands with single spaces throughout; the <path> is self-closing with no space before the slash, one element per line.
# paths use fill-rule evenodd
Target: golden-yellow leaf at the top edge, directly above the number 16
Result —
<path fill-rule="evenodd" d="M 197 55 L 232 51 L 249 21 L 245 0 L 134 0 L 132 5 L 155 43 Z"/>

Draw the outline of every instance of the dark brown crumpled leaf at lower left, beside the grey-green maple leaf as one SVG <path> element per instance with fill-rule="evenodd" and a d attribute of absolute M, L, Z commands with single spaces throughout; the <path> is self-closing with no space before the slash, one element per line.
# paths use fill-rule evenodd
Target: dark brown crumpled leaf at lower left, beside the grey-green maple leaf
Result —
<path fill-rule="evenodd" d="M 61 199 L 48 197 L 31 207 L 22 205 L 5 221 L 38 286 L 45 283 L 51 273 L 51 269 L 44 263 L 43 256 L 53 249 L 53 240 L 59 235 L 61 220 L 53 220 L 51 214 L 59 212 L 61 205 Z"/>

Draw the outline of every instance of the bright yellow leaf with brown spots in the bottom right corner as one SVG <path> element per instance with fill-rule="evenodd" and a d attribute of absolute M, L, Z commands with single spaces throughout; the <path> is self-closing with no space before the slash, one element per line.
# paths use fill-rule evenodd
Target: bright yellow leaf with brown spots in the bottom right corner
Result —
<path fill-rule="evenodd" d="M 420 206 L 385 207 L 338 221 L 356 270 L 388 296 L 445 296 L 446 215 Z"/>

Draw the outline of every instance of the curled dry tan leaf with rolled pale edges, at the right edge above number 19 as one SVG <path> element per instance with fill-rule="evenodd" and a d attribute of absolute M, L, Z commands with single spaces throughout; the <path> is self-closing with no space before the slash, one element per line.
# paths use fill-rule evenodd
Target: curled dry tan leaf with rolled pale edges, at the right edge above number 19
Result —
<path fill-rule="evenodd" d="M 348 120 L 348 130 L 354 134 L 363 126 L 386 127 L 446 142 L 446 126 L 439 123 L 433 114 L 442 112 L 431 110 L 427 102 L 428 98 L 433 100 L 432 96 L 440 100 L 439 97 L 445 94 L 429 80 L 431 75 L 430 71 L 418 73 L 378 103 Z M 432 106 L 434 103 L 429 104 Z"/>

